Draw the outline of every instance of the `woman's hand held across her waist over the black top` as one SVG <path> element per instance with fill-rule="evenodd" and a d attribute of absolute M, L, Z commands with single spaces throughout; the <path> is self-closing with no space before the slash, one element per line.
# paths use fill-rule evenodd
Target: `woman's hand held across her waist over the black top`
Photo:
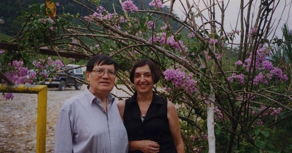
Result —
<path fill-rule="evenodd" d="M 129 141 L 129 151 L 139 150 L 143 153 L 158 153 L 159 144 L 151 140 Z"/>

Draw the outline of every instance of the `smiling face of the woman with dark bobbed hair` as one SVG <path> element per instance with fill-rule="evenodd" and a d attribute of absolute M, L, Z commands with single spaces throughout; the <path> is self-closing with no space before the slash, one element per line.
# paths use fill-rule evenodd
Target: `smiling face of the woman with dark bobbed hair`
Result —
<path fill-rule="evenodd" d="M 135 69 L 134 85 L 138 93 L 152 92 L 154 81 L 148 65 L 137 67 Z"/>

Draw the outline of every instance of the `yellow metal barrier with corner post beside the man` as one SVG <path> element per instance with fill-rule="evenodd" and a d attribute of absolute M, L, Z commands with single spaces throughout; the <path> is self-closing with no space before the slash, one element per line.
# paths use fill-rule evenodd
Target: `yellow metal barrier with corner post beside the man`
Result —
<path fill-rule="evenodd" d="M 46 152 L 47 85 L 3 85 L 0 92 L 37 94 L 37 153 Z"/>

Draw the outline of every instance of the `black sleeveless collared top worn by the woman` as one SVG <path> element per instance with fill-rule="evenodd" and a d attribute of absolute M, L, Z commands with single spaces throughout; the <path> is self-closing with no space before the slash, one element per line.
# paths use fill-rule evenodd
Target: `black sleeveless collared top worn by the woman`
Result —
<path fill-rule="evenodd" d="M 143 123 L 140 114 L 137 92 L 135 92 L 131 98 L 126 100 L 125 105 L 124 125 L 128 133 L 128 140 L 152 140 L 160 145 L 159 153 L 177 153 L 169 130 L 167 100 L 153 92 L 152 102 Z"/>

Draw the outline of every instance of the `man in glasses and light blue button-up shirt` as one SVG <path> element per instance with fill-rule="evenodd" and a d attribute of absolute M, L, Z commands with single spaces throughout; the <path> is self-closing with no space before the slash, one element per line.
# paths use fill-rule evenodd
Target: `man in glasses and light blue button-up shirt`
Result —
<path fill-rule="evenodd" d="M 117 63 L 95 55 L 87 63 L 89 84 L 61 108 L 55 134 L 55 153 L 127 153 L 128 137 L 115 98 L 110 94 Z"/>

